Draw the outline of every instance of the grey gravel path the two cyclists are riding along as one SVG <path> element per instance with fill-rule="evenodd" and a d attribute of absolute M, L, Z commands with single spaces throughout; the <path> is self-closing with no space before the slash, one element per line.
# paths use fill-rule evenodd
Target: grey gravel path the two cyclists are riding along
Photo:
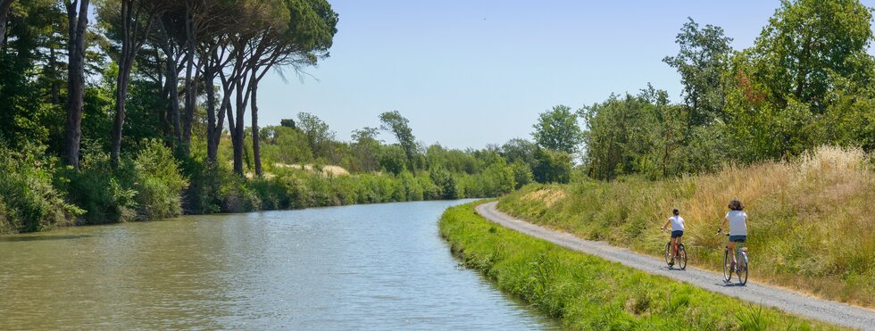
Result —
<path fill-rule="evenodd" d="M 624 248 L 580 239 L 576 236 L 561 233 L 549 228 L 542 228 L 521 219 L 515 219 L 496 209 L 497 203 L 482 203 L 477 206 L 477 212 L 483 217 L 515 231 L 529 236 L 535 236 L 554 244 L 570 248 L 578 252 L 596 255 L 608 261 L 620 262 L 623 265 L 644 270 L 647 273 L 670 277 L 690 285 L 696 285 L 705 290 L 737 297 L 741 300 L 771 306 L 805 316 L 820 319 L 845 327 L 864 330 L 875 330 L 875 311 L 854 307 L 841 302 L 830 302 L 797 294 L 778 287 L 758 285 L 748 281 L 746 286 L 724 284 L 723 276 L 711 271 L 687 266 L 686 270 L 668 269 L 665 261 Z M 733 282 L 735 278 L 733 278 Z"/>

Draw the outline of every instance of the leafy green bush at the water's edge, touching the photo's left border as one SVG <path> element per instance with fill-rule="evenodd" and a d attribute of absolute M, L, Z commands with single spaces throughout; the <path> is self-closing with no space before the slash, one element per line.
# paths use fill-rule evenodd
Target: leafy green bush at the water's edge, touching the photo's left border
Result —
<path fill-rule="evenodd" d="M 52 185 L 56 160 L 45 154 L 45 146 L 0 145 L 0 234 L 71 225 L 82 213 Z"/>

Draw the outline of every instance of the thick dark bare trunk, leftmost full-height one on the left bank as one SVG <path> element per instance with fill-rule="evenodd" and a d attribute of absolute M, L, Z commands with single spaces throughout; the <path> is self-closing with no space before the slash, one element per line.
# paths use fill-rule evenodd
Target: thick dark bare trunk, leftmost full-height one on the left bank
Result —
<path fill-rule="evenodd" d="M 67 84 L 67 123 L 64 145 L 66 145 L 67 164 L 79 170 L 79 141 L 82 138 L 82 108 L 85 105 L 85 29 L 88 25 L 89 0 L 67 2 L 67 23 L 70 39 L 67 44 L 68 84 Z"/>

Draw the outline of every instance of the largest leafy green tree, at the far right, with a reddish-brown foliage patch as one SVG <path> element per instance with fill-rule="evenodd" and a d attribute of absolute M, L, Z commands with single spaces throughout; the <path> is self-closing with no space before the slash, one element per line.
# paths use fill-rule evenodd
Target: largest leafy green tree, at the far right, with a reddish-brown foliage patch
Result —
<path fill-rule="evenodd" d="M 734 157 L 779 159 L 866 135 L 859 128 L 871 108 L 846 102 L 871 98 L 864 88 L 875 82 L 875 60 L 867 54 L 871 19 L 856 0 L 781 3 L 754 46 L 733 56 L 726 75 Z M 861 123 L 848 127 L 848 118 Z"/>

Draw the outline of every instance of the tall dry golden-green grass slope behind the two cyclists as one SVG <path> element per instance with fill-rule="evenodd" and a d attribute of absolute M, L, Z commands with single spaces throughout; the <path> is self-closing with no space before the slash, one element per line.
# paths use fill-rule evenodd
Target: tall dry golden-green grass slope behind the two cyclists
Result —
<path fill-rule="evenodd" d="M 794 161 L 728 167 L 694 177 L 533 185 L 499 209 L 577 236 L 662 255 L 658 231 L 678 207 L 696 268 L 720 268 L 716 229 L 727 203 L 746 205 L 755 281 L 829 300 L 875 306 L 875 171 L 854 149 L 821 147 Z"/>

